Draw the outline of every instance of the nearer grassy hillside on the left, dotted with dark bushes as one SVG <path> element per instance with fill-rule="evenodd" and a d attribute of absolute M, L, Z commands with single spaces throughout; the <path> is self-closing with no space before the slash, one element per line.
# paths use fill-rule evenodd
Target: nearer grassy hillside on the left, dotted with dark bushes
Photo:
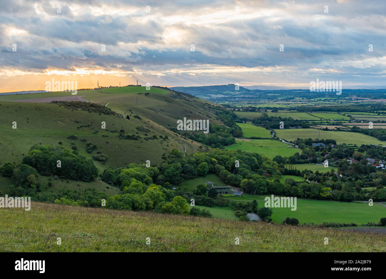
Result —
<path fill-rule="evenodd" d="M 7 161 L 21 163 L 23 154 L 26 155 L 32 145 L 42 143 L 62 146 L 69 150 L 75 145 L 79 154 L 87 158 L 91 158 L 96 152 L 102 152 L 108 156 L 106 165 L 95 162 L 102 170 L 110 166 L 116 168 L 130 163 L 145 163 L 146 160 L 150 160 L 151 163 L 160 162 L 163 153 L 173 148 L 181 150 L 181 145 L 174 138 L 185 141 L 170 130 L 145 119 L 130 117 L 128 120 L 119 114 L 100 115 L 57 104 L 21 102 L 0 104 L 3 120 L 0 123 L 1 164 Z M 17 129 L 12 129 L 14 121 L 17 122 Z M 101 129 L 102 121 L 106 122 L 106 129 Z M 139 135 L 141 139 L 120 139 L 118 136 L 121 129 L 124 129 L 126 134 Z M 70 135 L 78 139 L 70 140 L 67 138 Z M 144 139 L 153 135 L 156 135 L 157 139 Z M 168 139 L 166 140 L 164 136 L 168 136 Z M 59 145 L 59 142 L 62 144 Z M 86 153 L 87 142 L 94 143 L 98 149 L 91 154 Z M 189 144 L 193 149 L 198 145 L 198 143 Z M 141 152 L 138 152 L 139 150 Z M 191 151 L 189 148 L 187 150 Z"/>

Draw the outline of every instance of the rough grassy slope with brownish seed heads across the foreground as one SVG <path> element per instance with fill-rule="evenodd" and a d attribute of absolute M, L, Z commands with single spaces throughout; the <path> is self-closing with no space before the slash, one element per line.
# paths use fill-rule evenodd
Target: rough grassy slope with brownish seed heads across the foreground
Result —
<path fill-rule="evenodd" d="M 386 252 L 386 235 L 39 202 L 0 219 L 4 252 Z"/>

